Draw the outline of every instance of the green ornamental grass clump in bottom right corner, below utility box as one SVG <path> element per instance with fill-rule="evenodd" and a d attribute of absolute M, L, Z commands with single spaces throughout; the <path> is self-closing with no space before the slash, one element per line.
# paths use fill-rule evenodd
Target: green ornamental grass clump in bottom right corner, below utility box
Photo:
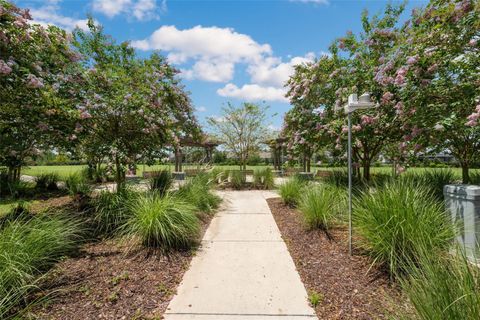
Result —
<path fill-rule="evenodd" d="M 429 253 L 417 263 L 402 287 L 420 319 L 480 319 L 480 269 L 463 252 Z"/>

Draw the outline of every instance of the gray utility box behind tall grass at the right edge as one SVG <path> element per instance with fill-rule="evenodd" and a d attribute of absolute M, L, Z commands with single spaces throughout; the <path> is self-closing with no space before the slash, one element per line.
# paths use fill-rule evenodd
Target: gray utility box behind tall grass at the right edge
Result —
<path fill-rule="evenodd" d="M 459 244 L 470 259 L 480 260 L 480 186 L 446 185 L 443 194 L 453 221 L 461 228 Z"/>

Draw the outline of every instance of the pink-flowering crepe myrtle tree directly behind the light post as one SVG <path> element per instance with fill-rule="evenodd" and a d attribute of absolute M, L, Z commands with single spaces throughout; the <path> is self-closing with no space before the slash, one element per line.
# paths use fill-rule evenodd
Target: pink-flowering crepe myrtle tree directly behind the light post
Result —
<path fill-rule="evenodd" d="M 363 177 L 370 179 L 370 166 L 385 143 L 400 141 L 404 127 L 397 113 L 397 93 L 380 83 L 376 77 L 379 61 L 392 54 L 402 29 L 398 18 L 403 6 L 387 5 L 383 15 L 362 15 L 363 31 L 355 35 L 347 32 L 330 47 L 330 64 L 325 61 L 312 65 L 313 69 L 300 75 L 295 87 L 289 91 L 291 99 L 307 100 L 323 105 L 331 116 L 320 124 L 327 133 L 336 133 L 335 148 L 342 149 L 348 128 L 343 106 L 352 93 L 370 92 L 379 107 L 352 115 L 354 165 L 363 167 Z M 306 76 L 302 78 L 301 76 Z M 291 84 L 292 85 L 292 84 Z M 334 101 L 332 100 L 334 97 Z M 334 112 L 338 109 L 338 112 Z M 332 115 L 333 113 L 333 115 Z M 406 116 L 406 115 L 405 115 Z M 359 163 L 358 163 L 359 162 Z"/>

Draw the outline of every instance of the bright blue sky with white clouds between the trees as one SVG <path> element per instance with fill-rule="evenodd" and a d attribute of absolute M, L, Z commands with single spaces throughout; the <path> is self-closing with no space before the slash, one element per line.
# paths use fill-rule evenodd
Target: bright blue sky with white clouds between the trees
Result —
<path fill-rule="evenodd" d="M 280 127 L 290 106 L 282 84 L 294 64 L 320 56 L 348 30 L 361 28 L 364 9 L 378 13 L 387 1 L 270 0 L 26 0 L 35 21 L 66 29 L 84 27 L 87 14 L 140 55 L 160 50 L 182 70 L 202 123 L 224 103 L 270 105 Z M 396 3 L 393 1 L 393 3 Z M 410 1 L 404 19 L 425 1 Z M 276 115 L 274 115 L 276 114 Z"/>

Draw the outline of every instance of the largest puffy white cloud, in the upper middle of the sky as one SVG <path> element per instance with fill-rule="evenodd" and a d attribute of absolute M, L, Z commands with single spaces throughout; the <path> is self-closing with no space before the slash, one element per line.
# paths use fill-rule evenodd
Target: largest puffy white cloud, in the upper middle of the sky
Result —
<path fill-rule="evenodd" d="M 194 61 L 190 70 L 183 70 L 189 79 L 226 82 L 233 78 L 237 63 L 260 63 L 271 55 L 268 44 L 259 44 L 250 36 L 231 28 L 196 26 L 179 30 L 162 26 L 149 38 L 133 41 L 140 50 L 168 51 L 168 59 L 175 64 Z"/>

